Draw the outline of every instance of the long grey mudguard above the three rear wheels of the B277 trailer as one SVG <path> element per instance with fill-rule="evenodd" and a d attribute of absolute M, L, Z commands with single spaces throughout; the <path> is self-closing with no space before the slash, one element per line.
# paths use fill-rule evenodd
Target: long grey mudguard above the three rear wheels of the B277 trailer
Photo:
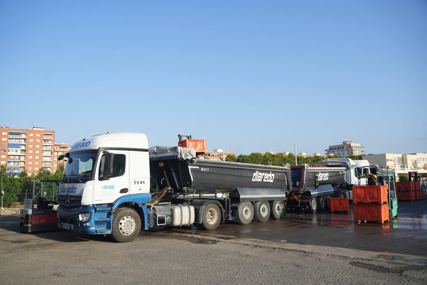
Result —
<path fill-rule="evenodd" d="M 286 200 L 285 189 L 237 188 L 231 192 L 233 202 Z"/>

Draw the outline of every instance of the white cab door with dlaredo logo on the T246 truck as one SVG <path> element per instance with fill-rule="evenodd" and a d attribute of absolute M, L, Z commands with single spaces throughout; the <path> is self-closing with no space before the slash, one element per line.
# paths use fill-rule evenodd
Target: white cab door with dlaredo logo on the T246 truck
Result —
<path fill-rule="evenodd" d="M 109 177 L 104 176 L 107 153 L 98 157 L 94 181 L 93 204 L 113 203 L 117 198 L 129 195 L 129 151 L 110 150 L 114 154 L 113 169 Z"/>

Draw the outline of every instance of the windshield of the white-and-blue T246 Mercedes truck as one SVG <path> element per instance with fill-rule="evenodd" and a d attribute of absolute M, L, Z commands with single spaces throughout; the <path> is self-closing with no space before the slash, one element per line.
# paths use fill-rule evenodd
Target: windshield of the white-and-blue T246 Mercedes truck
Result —
<path fill-rule="evenodd" d="M 96 153 L 97 150 L 83 150 L 70 153 L 70 159 L 65 164 L 62 180 L 68 182 L 75 180 L 78 182 L 88 181 L 92 176 Z"/>

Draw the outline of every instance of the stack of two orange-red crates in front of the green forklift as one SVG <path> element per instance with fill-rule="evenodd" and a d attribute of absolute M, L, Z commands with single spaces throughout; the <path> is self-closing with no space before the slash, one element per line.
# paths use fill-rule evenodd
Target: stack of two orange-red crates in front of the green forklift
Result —
<path fill-rule="evenodd" d="M 397 187 L 396 187 L 397 188 Z M 353 217 L 358 220 L 384 223 L 390 220 L 387 186 L 353 186 Z"/>

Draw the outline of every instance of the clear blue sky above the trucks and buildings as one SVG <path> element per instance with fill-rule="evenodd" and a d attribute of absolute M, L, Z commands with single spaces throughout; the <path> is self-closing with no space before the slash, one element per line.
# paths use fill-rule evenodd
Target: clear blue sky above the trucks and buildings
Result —
<path fill-rule="evenodd" d="M 424 0 L 88 2 L 0 2 L 1 124 L 427 151 Z"/>

